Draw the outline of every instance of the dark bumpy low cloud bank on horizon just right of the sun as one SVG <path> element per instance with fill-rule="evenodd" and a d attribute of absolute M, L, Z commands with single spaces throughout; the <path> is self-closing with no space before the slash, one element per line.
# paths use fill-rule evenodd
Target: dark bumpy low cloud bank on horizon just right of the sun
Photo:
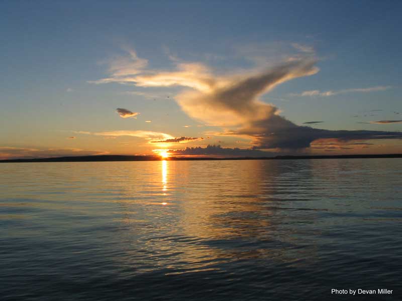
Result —
<path fill-rule="evenodd" d="M 169 154 L 175 156 L 208 156 L 216 155 L 220 157 L 272 157 L 275 153 L 263 152 L 258 149 L 224 148 L 221 145 L 208 145 L 206 147 L 186 147 L 185 149 L 170 149 Z"/>

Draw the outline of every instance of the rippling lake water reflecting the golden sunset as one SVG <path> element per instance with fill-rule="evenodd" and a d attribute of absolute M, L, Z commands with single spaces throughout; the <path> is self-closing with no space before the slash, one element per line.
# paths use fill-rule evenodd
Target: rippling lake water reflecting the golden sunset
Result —
<path fill-rule="evenodd" d="M 400 159 L 0 164 L 0 298 L 399 300 L 401 176 Z"/>

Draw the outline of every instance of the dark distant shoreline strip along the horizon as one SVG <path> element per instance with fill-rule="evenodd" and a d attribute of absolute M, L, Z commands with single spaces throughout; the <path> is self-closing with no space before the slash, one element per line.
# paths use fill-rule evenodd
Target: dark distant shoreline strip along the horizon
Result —
<path fill-rule="evenodd" d="M 99 155 L 79 157 L 55 157 L 37 159 L 8 159 L 0 163 L 39 163 L 39 162 L 121 162 L 121 161 L 211 161 L 211 160 L 310 160 L 310 159 L 376 159 L 376 158 L 402 158 L 402 154 L 386 155 L 320 155 L 320 156 L 275 156 L 275 157 L 233 157 L 233 158 L 188 158 L 169 157 L 162 159 L 159 156 L 123 156 Z"/>

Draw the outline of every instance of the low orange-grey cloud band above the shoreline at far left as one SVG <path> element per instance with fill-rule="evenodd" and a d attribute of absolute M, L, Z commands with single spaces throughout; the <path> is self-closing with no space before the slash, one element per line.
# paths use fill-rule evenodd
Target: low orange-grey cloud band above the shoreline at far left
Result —
<path fill-rule="evenodd" d="M 50 158 L 50 157 L 66 157 L 66 156 L 89 156 L 89 155 L 106 155 L 109 152 L 101 150 L 86 150 L 80 148 L 26 148 L 14 146 L 0 146 L 0 159 L 17 159 L 17 158 Z"/>

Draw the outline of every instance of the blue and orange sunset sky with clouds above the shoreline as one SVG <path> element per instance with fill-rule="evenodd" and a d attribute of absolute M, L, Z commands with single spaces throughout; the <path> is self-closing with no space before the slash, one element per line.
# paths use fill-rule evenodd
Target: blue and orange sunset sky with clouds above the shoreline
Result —
<path fill-rule="evenodd" d="M 402 153 L 398 1 L 0 6 L 0 159 Z"/>

